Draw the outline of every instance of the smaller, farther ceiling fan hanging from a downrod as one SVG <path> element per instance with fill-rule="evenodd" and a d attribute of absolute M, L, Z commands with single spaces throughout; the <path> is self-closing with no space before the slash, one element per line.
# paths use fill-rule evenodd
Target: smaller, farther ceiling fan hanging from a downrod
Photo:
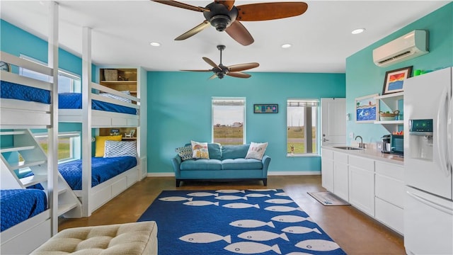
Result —
<path fill-rule="evenodd" d="M 215 77 L 218 77 L 219 79 L 222 79 L 225 74 L 231 77 L 237 77 L 237 78 L 249 78 L 251 77 L 250 74 L 243 73 L 241 71 L 252 69 L 255 67 L 259 67 L 260 64 L 253 62 L 253 63 L 246 63 L 246 64 L 233 64 L 231 66 L 224 66 L 222 64 L 222 50 L 225 50 L 225 45 L 217 45 L 217 49 L 220 51 L 220 64 L 215 64 L 214 61 L 210 60 L 207 57 L 202 57 L 207 64 L 210 64 L 212 69 L 207 69 L 207 70 L 181 70 L 181 71 L 190 71 L 190 72 L 214 72 L 212 74 L 212 77 L 210 79 L 214 79 Z"/>

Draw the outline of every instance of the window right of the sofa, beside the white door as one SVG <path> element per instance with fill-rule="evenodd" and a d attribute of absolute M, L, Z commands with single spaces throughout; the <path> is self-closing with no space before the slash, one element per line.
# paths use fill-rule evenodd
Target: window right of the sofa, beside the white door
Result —
<path fill-rule="evenodd" d="M 318 154 L 318 112 L 317 99 L 288 99 L 288 154 Z"/>

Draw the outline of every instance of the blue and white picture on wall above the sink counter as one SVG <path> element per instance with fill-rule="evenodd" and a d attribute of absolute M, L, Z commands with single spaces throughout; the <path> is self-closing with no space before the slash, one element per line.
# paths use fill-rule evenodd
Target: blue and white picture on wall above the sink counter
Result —
<path fill-rule="evenodd" d="M 356 123 L 373 123 L 374 120 L 378 120 L 379 100 L 375 98 L 376 96 L 379 94 L 355 98 Z"/>

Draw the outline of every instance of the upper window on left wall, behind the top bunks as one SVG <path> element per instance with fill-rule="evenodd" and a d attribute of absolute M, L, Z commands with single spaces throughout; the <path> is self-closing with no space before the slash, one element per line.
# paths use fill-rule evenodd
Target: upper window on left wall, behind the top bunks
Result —
<path fill-rule="evenodd" d="M 21 58 L 23 58 L 24 60 L 30 60 L 31 62 L 35 62 L 37 64 L 47 65 L 44 62 L 35 60 L 32 57 L 28 57 L 25 55 L 21 55 Z M 19 67 L 19 74 L 24 77 L 39 79 L 41 81 L 49 80 L 49 76 L 32 71 L 32 70 L 25 69 L 23 67 Z M 58 70 L 58 93 L 65 93 L 65 92 L 81 92 L 81 80 L 78 75 L 71 74 L 70 72 L 59 69 Z"/>

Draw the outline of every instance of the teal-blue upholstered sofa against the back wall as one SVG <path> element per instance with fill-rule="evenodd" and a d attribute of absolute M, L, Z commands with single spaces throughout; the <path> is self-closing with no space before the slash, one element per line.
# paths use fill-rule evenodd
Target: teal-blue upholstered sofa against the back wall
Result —
<path fill-rule="evenodd" d="M 177 154 L 171 159 L 176 176 L 176 187 L 181 181 L 263 181 L 268 185 L 270 157 L 246 159 L 250 145 L 208 143 L 210 159 L 182 160 Z"/>

